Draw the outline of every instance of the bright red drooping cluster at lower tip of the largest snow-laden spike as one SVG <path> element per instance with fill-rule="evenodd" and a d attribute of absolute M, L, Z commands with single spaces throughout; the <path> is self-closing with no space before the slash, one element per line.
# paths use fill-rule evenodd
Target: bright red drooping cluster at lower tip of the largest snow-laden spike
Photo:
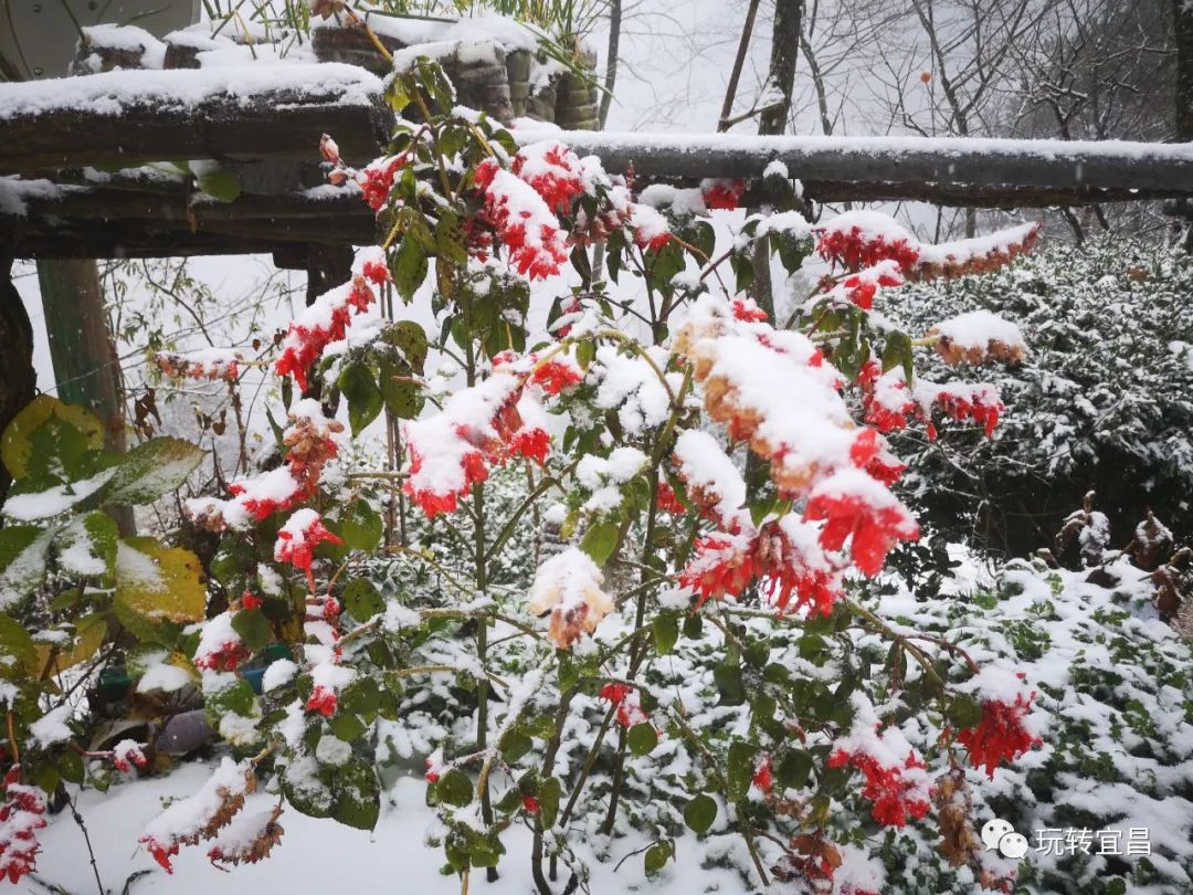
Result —
<path fill-rule="evenodd" d="M 857 469 L 841 469 L 812 489 L 804 511 L 809 521 L 824 520 L 820 542 L 840 550 L 849 539 L 854 566 L 877 575 L 897 541 L 916 541 L 920 526 L 882 483 Z"/>

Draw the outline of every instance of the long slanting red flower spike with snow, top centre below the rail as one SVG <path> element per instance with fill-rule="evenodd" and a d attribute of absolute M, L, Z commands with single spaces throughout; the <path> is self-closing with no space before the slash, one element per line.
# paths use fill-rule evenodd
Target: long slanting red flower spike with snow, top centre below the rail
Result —
<path fill-rule="evenodd" d="M 560 265 L 568 260 L 568 251 L 560 222 L 546 200 L 494 159 L 477 165 L 476 185 L 484 191 L 481 215 L 509 251 L 518 272 L 530 279 L 558 273 Z"/>

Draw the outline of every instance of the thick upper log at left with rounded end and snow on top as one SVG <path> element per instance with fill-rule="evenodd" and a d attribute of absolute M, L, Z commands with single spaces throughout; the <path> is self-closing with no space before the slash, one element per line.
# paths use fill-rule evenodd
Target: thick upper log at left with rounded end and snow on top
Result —
<path fill-rule="evenodd" d="M 105 72 L 0 84 L 0 174 L 190 159 L 367 161 L 392 113 L 378 78 L 336 63 Z"/>

